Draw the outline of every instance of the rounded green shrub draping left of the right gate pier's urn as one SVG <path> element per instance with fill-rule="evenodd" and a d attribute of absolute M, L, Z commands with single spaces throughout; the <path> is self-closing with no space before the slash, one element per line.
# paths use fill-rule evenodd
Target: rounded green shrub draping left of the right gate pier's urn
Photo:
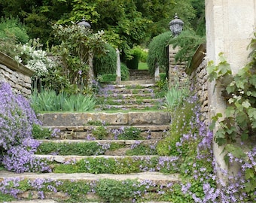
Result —
<path fill-rule="evenodd" d="M 163 34 L 154 37 L 148 46 L 148 70 L 151 74 L 154 74 L 157 66 L 163 68 L 165 72 L 168 67 L 168 50 L 167 46 L 170 38 L 172 38 L 170 32 L 164 32 Z"/>

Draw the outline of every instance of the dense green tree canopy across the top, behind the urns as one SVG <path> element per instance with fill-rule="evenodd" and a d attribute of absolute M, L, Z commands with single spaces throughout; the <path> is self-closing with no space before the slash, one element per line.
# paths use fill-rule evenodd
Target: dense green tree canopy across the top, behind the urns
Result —
<path fill-rule="evenodd" d="M 106 39 L 124 53 L 136 44 L 169 30 L 169 21 L 178 14 L 186 29 L 203 32 L 202 0 L 0 0 L 2 17 L 19 17 L 31 38 L 46 44 L 53 41 L 52 26 L 78 22 L 84 17 L 93 31 L 104 30 Z"/>

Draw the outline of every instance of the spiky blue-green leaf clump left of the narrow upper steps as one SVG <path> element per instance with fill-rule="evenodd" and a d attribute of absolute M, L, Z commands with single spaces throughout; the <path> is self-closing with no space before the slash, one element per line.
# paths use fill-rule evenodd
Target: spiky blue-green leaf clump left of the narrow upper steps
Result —
<path fill-rule="evenodd" d="M 31 105 L 34 111 L 90 111 L 96 102 L 91 95 L 68 94 L 60 92 L 58 95 L 50 89 L 43 89 L 40 93 L 36 90 L 31 96 Z"/>

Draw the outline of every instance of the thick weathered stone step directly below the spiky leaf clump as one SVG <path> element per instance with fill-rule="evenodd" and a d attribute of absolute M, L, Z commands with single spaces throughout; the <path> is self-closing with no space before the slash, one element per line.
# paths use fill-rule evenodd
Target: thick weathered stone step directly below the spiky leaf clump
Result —
<path fill-rule="evenodd" d="M 99 121 L 109 125 L 141 126 L 168 125 L 171 121 L 168 111 L 142 111 L 118 113 L 45 113 L 38 114 L 43 126 L 85 126 Z"/>

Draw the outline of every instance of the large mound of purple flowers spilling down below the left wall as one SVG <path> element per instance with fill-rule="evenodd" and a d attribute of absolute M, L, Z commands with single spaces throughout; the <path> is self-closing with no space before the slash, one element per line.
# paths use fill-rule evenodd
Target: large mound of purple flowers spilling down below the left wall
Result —
<path fill-rule="evenodd" d="M 32 139 L 33 124 L 40 124 L 23 95 L 0 82 L 0 149 L 2 164 L 10 171 L 49 171 L 46 161 L 35 159 L 39 142 Z"/>

